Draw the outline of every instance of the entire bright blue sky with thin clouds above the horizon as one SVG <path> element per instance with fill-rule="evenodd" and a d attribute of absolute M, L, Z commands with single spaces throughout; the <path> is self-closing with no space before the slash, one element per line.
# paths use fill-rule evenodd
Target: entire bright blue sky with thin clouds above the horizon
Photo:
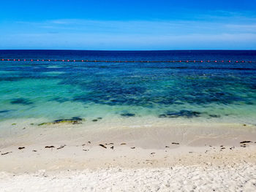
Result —
<path fill-rule="evenodd" d="M 0 49 L 256 50 L 256 0 L 8 0 Z"/>

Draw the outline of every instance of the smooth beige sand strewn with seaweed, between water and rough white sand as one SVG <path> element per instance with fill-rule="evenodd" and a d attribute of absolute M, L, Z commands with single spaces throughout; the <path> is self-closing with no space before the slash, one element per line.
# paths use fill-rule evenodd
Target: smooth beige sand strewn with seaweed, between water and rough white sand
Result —
<path fill-rule="evenodd" d="M 143 167 L 146 160 L 167 167 L 175 166 L 180 158 L 184 159 L 180 163 L 185 166 L 204 164 L 211 158 L 214 163 L 219 161 L 219 156 L 232 156 L 239 162 L 256 161 L 254 125 L 200 123 L 86 129 L 83 124 L 63 123 L 36 128 L 17 126 L 5 133 L 0 140 L 0 172 L 102 168 L 105 164 Z M 247 158 L 248 155 L 253 158 Z M 137 159 L 134 163 L 126 163 L 134 159 Z"/>

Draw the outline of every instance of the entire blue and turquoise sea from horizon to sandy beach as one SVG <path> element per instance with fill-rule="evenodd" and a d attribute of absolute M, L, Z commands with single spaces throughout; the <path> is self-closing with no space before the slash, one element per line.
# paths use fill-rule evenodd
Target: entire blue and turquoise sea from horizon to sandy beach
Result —
<path fill-rule="evenodd" d="M 0 121 L 65 118 L 256 124 L 256 51 L 0 50 Z M 95 120 L 96 121 L 96 120 Z M 96 122 L 97 123 L 97 122 Z"/>

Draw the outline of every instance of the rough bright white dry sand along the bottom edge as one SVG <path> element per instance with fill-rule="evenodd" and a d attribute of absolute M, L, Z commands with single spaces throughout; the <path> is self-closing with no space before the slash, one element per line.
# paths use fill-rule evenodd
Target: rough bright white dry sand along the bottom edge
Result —
<path fill-rule="evenodd" d="M 256 166 L 109 168 L 0 174 L 1 191 L 255 191 Z"/>

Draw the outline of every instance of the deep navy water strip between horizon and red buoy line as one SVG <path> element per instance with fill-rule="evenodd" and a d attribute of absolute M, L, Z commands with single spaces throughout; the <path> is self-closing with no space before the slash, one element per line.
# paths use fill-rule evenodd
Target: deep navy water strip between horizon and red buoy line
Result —
<path fill-rule="evenodd" d="M 0 50 L 0 58 L 88 59 L 106 61 L 244 60 L 255 61 L 256 50 Z"/>

